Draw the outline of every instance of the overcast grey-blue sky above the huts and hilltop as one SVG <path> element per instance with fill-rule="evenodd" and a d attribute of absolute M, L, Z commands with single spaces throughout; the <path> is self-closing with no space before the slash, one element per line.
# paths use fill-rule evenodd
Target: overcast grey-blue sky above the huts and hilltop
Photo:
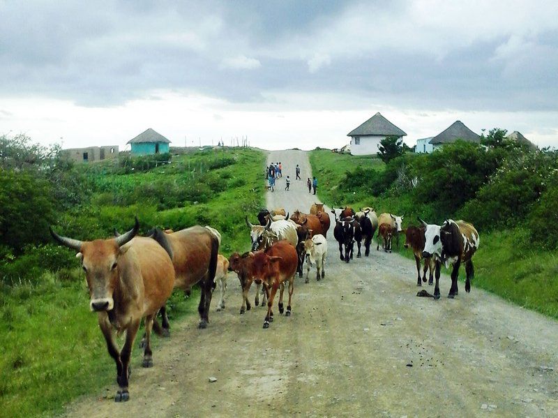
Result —
<path fill-rule="evenodd" d="M 3 1 L 0 135 L 341 147 L 376 112 L 558 146 L 558 1 Z M 121 148 L 122 149 L 122 148 Z"/>

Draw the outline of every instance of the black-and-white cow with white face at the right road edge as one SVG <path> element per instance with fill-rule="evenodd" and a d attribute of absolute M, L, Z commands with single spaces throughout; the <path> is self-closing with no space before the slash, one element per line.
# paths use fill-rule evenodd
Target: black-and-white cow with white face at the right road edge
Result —
<path fill-rule="evenodd" d="M 453 299 L 458 294 L 458 275 L 461 263 L 465 263 L 467 280 L 465 281 L 465 292 L 471 291 L 471 280 L 474 277 L 472 257 L 478 248 L 480 239 L 475 227 L 465 221 L 453 221 L 446 219 L 442 226 L 430 225 L 418 218 L 425 227 L 425 245 L 423 257 L 434 257 L 436 261 L 436 285 L 434 297 L 439 299 L 440 264 L 453 264 L 451 271 L 451 288 L 448 297 Z"/>

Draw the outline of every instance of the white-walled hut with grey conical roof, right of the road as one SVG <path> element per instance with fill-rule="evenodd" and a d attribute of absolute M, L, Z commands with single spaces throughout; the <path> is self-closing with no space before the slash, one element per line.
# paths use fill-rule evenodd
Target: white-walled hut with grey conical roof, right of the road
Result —
<path fill-rule="evenodd" d="M 376 154 L 379 142 L 390 135 L 402 138 L 407 134 L 377 112 L 361 126 L 347 133 L 347 136 L 351 137 L 351 154 L 354 156 Z"/>

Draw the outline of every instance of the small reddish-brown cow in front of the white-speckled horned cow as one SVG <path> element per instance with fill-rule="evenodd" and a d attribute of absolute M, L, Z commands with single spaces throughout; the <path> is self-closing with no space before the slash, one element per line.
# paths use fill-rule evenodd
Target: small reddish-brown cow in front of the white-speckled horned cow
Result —
<path fill-rule="evenodd" d="M 252 258 L 252 276 L 256 280 L 263 281 L 266 289 L 270 290 L 267 301 L 267 315 L 264 320 L 264 328 L 269 328 L 269 322 L 272 321 L 271 317 L 273 316 L 271 307 L 279 288 L 279 313 L 283 313 L 285 281 L 289 282 L 289 304 L 287 304 L 285 316 L 291 315 L 294 274 L 296 273 L 296 264 L 298 264 L 299 260 L 294 246 L 287 241 L 279 241 L 266 251 L 258 251 L 250 257 Z"/>

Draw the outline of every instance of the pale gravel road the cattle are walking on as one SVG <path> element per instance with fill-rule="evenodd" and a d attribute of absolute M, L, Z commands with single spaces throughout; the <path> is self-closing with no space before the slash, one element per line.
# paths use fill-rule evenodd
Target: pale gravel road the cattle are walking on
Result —
<path fill-rule="evenodd" d="M 284 177 L 268 206 L 308 211 L 306 153 L 273 151 L 271 161 L 282 162 Z M 302 181 L 294 180 L 297 163 Z M 216 312 L 212 303 L 208 329 L 197 329 L 197 316 L 174 322 L 153 368 L 133 359 L 130 401 L 98 391 L 68 415 L 558 416 L 558 322 L 474 287 L 447 299 L 447 276 L 442 299 L 416 297 L 414 262 L 374 247 L 345 264 L 333 223 L 328 245 L 324 280 L 315 281 L 315 270 L 309 284 L 296 278 L 291 317 L 275 309 L 262 329 L 264 308 L 239 315 L 239 281 L 229 274 L 227 306 Z M 114 395 L 116 384 L 109 389 Z"/>

